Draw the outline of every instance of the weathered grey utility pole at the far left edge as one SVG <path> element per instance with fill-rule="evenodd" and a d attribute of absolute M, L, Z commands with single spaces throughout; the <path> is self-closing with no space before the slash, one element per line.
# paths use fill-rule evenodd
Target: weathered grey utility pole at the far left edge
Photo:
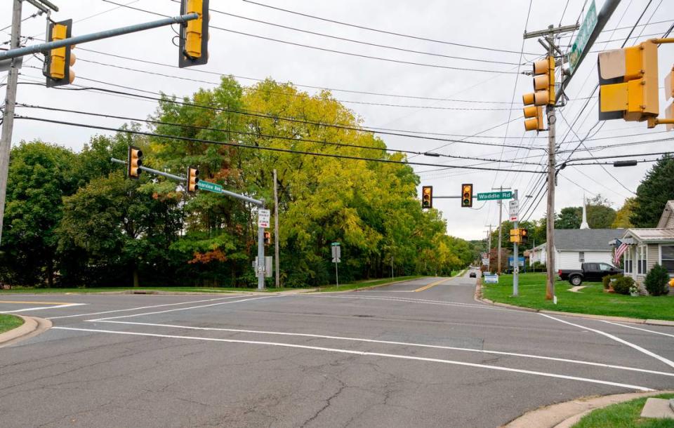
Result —
<path fill-rule="evenodd" d="M 19 47 L 21 36 L 21 0 L 14 0 L 12 11 L 12 38 L 11 48 Z M 9 173 L 9 152 L 12 147 L 12 131 L 14 126 L 14 106 L 16 104 L 16 86 L 19 79 L 19 69 L 15 61 L 7 76 L 7 91 L 5 108 L 2 113 L 2 133 L 0 135 L 0 243 L 2 243 L 2 221 L 5 215 L 5 198 L 7 196 L 7 176 Z"/>

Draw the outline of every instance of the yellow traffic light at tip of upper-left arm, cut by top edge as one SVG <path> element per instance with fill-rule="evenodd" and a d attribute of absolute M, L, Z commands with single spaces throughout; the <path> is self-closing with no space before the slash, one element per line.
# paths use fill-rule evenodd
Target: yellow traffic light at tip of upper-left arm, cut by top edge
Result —
<path fill-rule="evenodd" d="M 209 62 L 209 0 L 181 0 L 180 15 L 187 13 L 197 13 L 199 18 L 180 25 L 180 68 Z"/>

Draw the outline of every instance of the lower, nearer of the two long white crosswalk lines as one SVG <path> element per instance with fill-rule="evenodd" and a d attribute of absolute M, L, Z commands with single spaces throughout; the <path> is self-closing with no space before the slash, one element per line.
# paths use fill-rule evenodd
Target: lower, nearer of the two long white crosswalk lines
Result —
<path fill-rule="evenodd" d="M 640 387 L 637 385 L 624 384 L 618 382 L 609 382 L 606 380 L 590 379 L 588 377 L 578 377 L 578 376 L 567 376 L 567 375 L 557 375 L 555 373 L 545 373 L 534 370 L 523 370 L 520 368 L 508 368 L 500 366 L 491 366 L 489 364 L 478 364 L 478 363 L 467 363 L 465 361 L 454 361 L 454 360 L 445 360 L 445 359 L 435 359 L 435 358 L 426 358 L 422 356 L 411 356 L 411 355 L 399 355 L 399 354 L 383 354 L 381 352 L 366 352 L 366 351 L 354 351 L 352 349 L 339 349 L 339 348 L 326 348 L 326 347 L 312 347 L 308 345 L 295 345 L 292 343 L 282 343 L 282 342 L 260 342 L 257 340 L 235 340 L 235 339 L 217 339 L 213 337 L 197 337 L 197 336 L 178 336 L 178 335 L 160 335 L 155 333 L 136 333 L 131 331 L 114 331 L 114 330 L 98 330 L 95 328 L 72 328 L 72 327 L 52 327 L 52 329 L 57 330 L 73 330 L 73 331 L 86 331 L 90 333 L 110 333 L 116 335 L 132 335 L 132 336 L 147 336 L 147 337 L 161 337 L 167 339 L 183 339 L 183 340 L 202 340 L 204 342 L 226 342 L 226 343 L 242 343 L 247 345 L 266 345 L 266 346 L 276 346 L 276 347 L 287 347 L 287 348 L 296 348 L 296 349 L 310 349 L 313 351 L 323 351 L 323 352 L 335 352 L 339 354 L 354 354 L 361 356 L 381 356 L 392 359 L 404 359 L 404 360 L 413 360 L 413 361 L 425 361 L 430 363 L 444 363 L 451 364 L 454 366 L 466 366 L 466 367 L 475 367 L 475 368 L 486 368 L 490 370 L 498 370 L 511 373 L 523 373 L 526 375 L 538 375 L 544 377 L 555 377 L 557 379 L 566 379 L 566 380 L 578 380 L 581 382 L 589 382 L 603 385 L 610 385 L 612 387 L 622 387 L 627 389 L 636 389 L 637 391 L 654 391 L 654 389 L 647 387 Z"/>

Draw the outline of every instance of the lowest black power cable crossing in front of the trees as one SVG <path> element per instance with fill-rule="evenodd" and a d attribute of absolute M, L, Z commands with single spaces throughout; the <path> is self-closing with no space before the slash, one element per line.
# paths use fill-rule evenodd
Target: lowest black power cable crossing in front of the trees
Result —
<path fill-rule="evenodd" d="M 41 118 L 41 117 L 15 116 L 15 118 L 16 119 L 22 119 L 22 120 L 29 120 L 29 121 L 41 121 L 41 122 L 47 122 L 47 123 L 57 123 L 59 125 L 78 126 L 80 128 L 100 129 L 102 131 L 128 133 L 128 134 L 133 134 L 133 135 L 145 135 L 147 137 L 154 137 L 154 138 L 166 138 L 168 140 L 182 140 L 182 141 L 190 141 L 190 142 L 201 142 L 201 143 L 204 143 L 204 144 L 223 145 L 223 146 L 228 146 L 228 147 L 240 147 L 240 148 L 244 148 L 244 149 L 266 150 L 266 151 L 270 151 L 270 152 L 302 154 L 302 155 L 308 155 L 308 156 L 331 157 L 331 158 L 338 158 L 338 159 L 352 159 L 352 160 L 356 160 L 356 161 L 397 163 L 397 164 L 401 164 L 401 165 L 439 166 L 439 165 L 434 164 L 434 163 L 395 161 L 395 160 L 392 160 L 392 159 L 365 158 L 365 157 L 360 157 L 360 156 L 349 156 L 349 155 L 345 155 L 345 154 L 328 154 L 328 153 L 317 153 L 317 152 L 305 152 L 305 151 L 302 151 L 302 150 L 281 149 L 281 148 L 278 148 L 278 147 L 242 145 L 242 144 L 239 144 L 239 143 L 236 143 L 236 142 L 214 141 L 214 140 L 206 140 L 206 139 L 203 139 L 203 138 L 182 137 L 182 136 L 178 136 L 178 135 L 161 135 L 161 134 L 157 134 L 157 133 L 148 133 L 148 132 L 144 132 L 144 131 L 133 131 L 133 130 L 130 130 L 130 129 L 123 129 L 123 128 L 110 128 L 110 127 L 107 127 L 107 126 L 90 125 L 90 124 L 86 124 L 86 123 L 57 121 L 57 120 L 45 119 L 45 118 Z M 473 170 L 498 170 L 498 168 L 463 166 L 463 165 L 456 165 L 455 168 L 473 169 Z M 527 172 L 537 173 L 536 171 L 531 171 L 531 170 L 528 170 Z"/>

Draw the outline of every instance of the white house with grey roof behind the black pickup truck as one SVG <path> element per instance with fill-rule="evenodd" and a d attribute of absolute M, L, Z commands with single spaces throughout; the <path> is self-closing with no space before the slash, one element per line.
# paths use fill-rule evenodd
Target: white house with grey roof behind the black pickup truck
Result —
<path fill-rule="evenodd" d="M 613 264 L 611 243 L 621 238 L 625 229 L 555 229 L 555 269 L 580 269 L 581 263 Z M 531 250 L 530 263 L 546 265 L 547 244 Z"/>

